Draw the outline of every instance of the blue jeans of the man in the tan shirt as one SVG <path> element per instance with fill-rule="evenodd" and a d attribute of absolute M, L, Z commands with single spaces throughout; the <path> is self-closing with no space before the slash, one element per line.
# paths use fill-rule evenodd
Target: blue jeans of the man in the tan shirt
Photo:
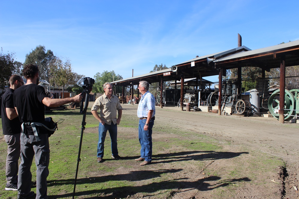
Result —
<path fill-rule="evenodd" d="M 110 138 L 111 138 L 111 151 L 112 155 L 118 155 L 117 150 L 117 124 L 99 124 L 99 142 L 97 144 L 97 157 L 103 158 L 104 156 L 104 142 L 106 138 L 106 133 L 109 131 Z"/>

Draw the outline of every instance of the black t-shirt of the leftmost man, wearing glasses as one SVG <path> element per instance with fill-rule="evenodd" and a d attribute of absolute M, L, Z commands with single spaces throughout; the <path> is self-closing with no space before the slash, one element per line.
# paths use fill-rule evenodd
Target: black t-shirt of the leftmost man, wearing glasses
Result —
<path fill-rule="evenodd" d="M 18 117 L 10 120 L 6 114 L 6 108 L 15 109 L 13 104 L 13 89 L 8 88 L 2 95 L 1 120 L 3 135 L 13 135 L 21 133 L 21 122 Z"/>

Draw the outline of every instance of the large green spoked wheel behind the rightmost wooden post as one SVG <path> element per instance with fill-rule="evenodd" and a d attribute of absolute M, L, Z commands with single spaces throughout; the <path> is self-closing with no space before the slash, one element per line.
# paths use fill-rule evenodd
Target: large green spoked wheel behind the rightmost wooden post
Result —
<path fill-rule="evenodd" d="M 297 90 L 297 91 L 296 91 Z M 292 92 L 294 92 L 296 94 L 298 94 L 298 89 L 293 89 L 291 90 Z M 279 95 L 280 95 L 280 90 L 277 89 L 276 91 L 274 91 L 272 93 L 272 95 L 269 98 L 268 101 L 268 108 L 269 111 L 271 112 L 271 114 L 273 115 L 273 117 L 275 117 L 276 119 L 279 119 L 279 112 L 276 113 L 275 109 L 279 109 Z M 295 98 L 294 95 L 292 94 L 292 92 L 290 92 L 289 90 L 285 90 L 285 96 L 284 96 L 284 120 L 285 121 L 290 121 L 294 116 L 294 109 L 295 109 Z"/>

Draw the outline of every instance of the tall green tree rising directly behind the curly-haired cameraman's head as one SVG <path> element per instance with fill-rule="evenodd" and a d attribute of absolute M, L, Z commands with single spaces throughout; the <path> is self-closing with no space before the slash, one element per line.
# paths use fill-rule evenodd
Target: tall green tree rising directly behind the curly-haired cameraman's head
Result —
<path fill-rule="evenodd" d="M 39 78 L 49 81 L 50 63 L 55 59 L 55 55 L 51 50 L 47 50 L 45 46 L 36 46 L 32 52 L 26 54 L 24 66 L 27 64 L 36 64 L 39 67 Z"/>

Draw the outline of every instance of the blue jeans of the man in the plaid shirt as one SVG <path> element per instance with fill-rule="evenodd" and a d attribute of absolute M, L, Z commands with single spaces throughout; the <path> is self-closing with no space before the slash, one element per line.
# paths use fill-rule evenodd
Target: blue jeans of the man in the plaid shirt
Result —
<path fill-rule="evenodd" d="M 148 130 L 145 131 L 144 125 L 147 121 L 146 118 L 139 120 L 138 137 L 141 145 L 140 155 L 145 161 L 152 161 L 152 127 L 154 126 L 154 120 L 149 121 Z"/>

